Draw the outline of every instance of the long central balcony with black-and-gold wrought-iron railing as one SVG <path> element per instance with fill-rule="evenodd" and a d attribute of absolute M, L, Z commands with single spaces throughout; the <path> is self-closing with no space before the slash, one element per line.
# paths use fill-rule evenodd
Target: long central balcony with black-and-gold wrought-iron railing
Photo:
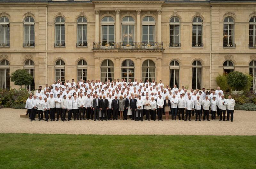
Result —
<path fill-rule="evenodd" d="M 93 51 L 164 51 L 163 42 L 93 42 Z"/>

